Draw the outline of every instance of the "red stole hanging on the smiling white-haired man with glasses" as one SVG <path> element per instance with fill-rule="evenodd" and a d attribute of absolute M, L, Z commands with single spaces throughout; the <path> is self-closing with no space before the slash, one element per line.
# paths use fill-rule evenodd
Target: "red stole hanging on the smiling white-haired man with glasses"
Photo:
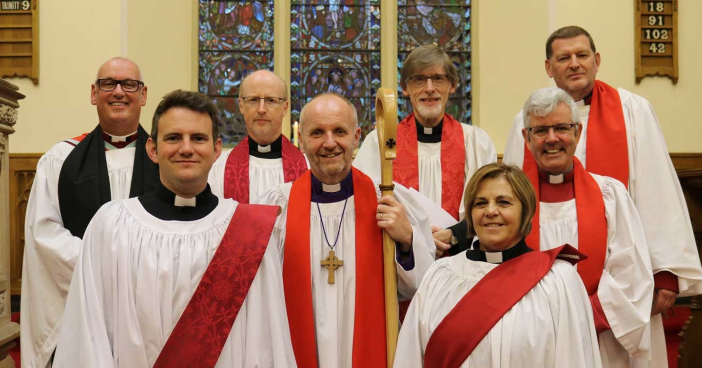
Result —
<path fill-rule="evenodd" d="M 588 295 L 597 292 L 600 285 L 604 258 L 607 255 L 607 217 L 604 213 L 604 199 L 602 190 L 595 182 L 595 178 L 585 171 L 578 158 L 573 158 L 573 185 L 575 189 L 576 214 L 578 216 L 578 250 L 588 255 L 586 261 L 578 264 L 578 274 L 583 279 Z M 536 214 L 531 221 L 531 233 L 527 236 L 527 245 L 534 250 L 540 249 L 539 228 L 539 189 L 538 172 L 531 170 L 525 172 L 531 185 L 536 191 Z"/>

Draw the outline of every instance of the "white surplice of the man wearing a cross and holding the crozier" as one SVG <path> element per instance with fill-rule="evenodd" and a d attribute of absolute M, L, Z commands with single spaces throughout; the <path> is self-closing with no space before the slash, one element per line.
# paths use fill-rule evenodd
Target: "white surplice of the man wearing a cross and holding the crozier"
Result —
<path fill-rule="evenodd" d="M 258 198 L 259 203 L 279 205 L 283 208 L 278 221 L 286 223 L 288 202 L 292 183 L 286 183 L 277 189 L 268 191 Z M 380 197 L 376 185 L 376 194 Z M 434 205 L 425 198 L 418 198 L 416 191 L 411 191 L 400 184 L 395 184 L 395 197 L 399 200 L 409 217 L 412 226 L 412 250 L 414 268 L 406 271 L 397 264 L 397 292 L 400 299 L 410 299 L 416 291 L 422 276 L 434 261 L 435 245 L 432 240 L 430 224 L 442 224 L 441 219 L 430 219 L 425 207 Z M 354 196 L 336 203 L 311 203 L 310 207 L 310 267 L 312 275 L 312 310 L 314 313 L 314 331 L 317 336 L 317 358 L 319 367 L 351 367 L 353 352 L 353 335 L 356 302 L 356 217 Z M 435 205 L 436 206 L 436 205 Z M 438 207 L 438 206 L 436 206 Z M 442 212 L 438 208 L 439 212 Z M 322 217 L 319 216 L 321 212 Z M 446 212 L 443 212 L 449 217 Z M 343 215 L 343 223 L 341 217 Z M 451 224 L 451 220 L 443 220 Z M 327 282 L 327 270 L 320 265 L 329 254 L 326 238 L 333 244 L 338 234 L 338 244 L 334 247 L 336 257 L 344 261 L 343 266 L 334 271 L 336 283 Z M 276 226 L 279 231 L 279 252 L 283 258 L 285 226 Z"/>

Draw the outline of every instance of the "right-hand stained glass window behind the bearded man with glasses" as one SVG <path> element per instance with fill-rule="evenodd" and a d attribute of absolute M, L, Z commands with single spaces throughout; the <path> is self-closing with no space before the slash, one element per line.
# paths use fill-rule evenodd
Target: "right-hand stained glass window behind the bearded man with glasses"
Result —
<path fill-rule="evenodd" d="M 422 45 L 435 44 L 449 54 L 461 83 L 449 97 L 446 113 L 462 123 L 471 123 L 470 0 L 399 1 L 397 6 L 397 80 L 409 53 Z M 408 97 L 398 83 L 398 113 L 412 112 Z"/>

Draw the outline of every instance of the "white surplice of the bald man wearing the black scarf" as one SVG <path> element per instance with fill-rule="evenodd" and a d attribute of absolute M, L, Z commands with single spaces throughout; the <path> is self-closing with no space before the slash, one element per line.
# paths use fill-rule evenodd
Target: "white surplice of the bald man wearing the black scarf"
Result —
<path fill-rule="evenodd" d="M 41 156 L 27 203 L 20 313 L 22 367 L 46 367 L 56 346 L 81 249 L 81 239 L 64 227 L 58 205 L 58 177 L 73 148 L 60 142 Z M 113 200 L 129 197 L 134 154 L 135 148 L 105 151 Z"/>

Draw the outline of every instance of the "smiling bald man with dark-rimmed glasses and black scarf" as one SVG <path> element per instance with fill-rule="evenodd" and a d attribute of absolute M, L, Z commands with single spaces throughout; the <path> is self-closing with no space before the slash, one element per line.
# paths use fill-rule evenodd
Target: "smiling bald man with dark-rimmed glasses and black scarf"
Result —
<path fill-rule="evenodd" d="M 98 126 L 55 144 L 37 164 L 25 219 L 20 342 L 22 362 L 45 367 L 57 343 L 73 267 L 86 226 L 110 200 L 139 196 L 159 182 L 139 124 L 147 87 L 139 67 L 107 60 L 91 87 Z"/>

